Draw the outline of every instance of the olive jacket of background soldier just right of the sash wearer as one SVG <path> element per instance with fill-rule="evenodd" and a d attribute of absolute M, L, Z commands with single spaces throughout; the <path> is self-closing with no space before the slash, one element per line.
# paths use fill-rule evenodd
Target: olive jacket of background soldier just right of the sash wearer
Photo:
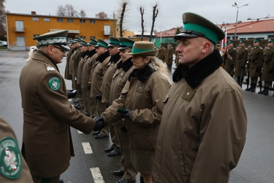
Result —
<path fill-rule="evenodd" d="M 240 76 L 241 73 L 242 73 L 242 77 L 247 75 L 247 69 L 246 68 L 242 69 L 242 66 L 245 67 L 245 65 L 247 64 L 247 56 L 248 56 L 247 48 L 242 47 L 238 49 L 236 53 L 236 64 L 235 64 L 234 75 Z"/>

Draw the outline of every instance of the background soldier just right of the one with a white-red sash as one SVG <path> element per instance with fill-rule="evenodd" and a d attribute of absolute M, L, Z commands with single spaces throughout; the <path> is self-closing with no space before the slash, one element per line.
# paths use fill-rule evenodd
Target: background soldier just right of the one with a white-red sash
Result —
<path fill-rule="evenodd" d="M 245 68 L 247 64 L 247 48 L 245 47 L 245 40 L 240 40 L 240 48 L 236 52 L 236 65 L 235 65 L 235 73 L 234 75 L 237 77 L 237 83 L 242 87 L 242 81 L 244 80 L 244 76 L 247 75 L 247 70 Z"/>

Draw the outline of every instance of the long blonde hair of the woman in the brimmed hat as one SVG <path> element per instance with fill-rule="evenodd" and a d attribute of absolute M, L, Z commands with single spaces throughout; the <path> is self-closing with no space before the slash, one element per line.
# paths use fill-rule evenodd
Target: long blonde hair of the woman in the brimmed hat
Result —
<path fill-rule="evenodd" d="M 166 80 L 171 82 L 170 81 L 171 79 L 169 78 L 169 73 L 166 69 L 166 66 L 164 66 L 164 63 L 162 62 L 162 60 L 160 60 L 156 56 L 145 56 L 145 58 L 147 58 L 147 57 L 150 58 L 150 62 L 147 63 L 147 65 L 150 66 L 151 68 L 155 69 L 155 71 L 160 73 L 160 75 L 162 75 L 162 77 L 164 77 Z"/>

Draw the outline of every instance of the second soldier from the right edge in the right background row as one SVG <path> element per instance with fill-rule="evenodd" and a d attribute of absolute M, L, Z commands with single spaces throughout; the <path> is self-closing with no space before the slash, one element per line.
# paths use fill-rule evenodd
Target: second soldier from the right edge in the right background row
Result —
<path fill-rule="evenodd" d="M 258 77 L 262 72 L 262 47 L 260 47 L 260 42 L 261 40 L 258 38 L 253 40 L 253 48 L 249 56 L 249 76 L 251 77 L 251 84 L 250 87 L 245 90 L 251 92 L 255 92 Z"/>

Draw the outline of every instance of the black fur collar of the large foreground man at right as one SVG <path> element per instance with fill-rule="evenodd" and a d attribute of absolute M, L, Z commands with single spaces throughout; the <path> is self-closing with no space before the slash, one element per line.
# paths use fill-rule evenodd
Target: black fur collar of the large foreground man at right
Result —
<path fill-rule="evenodd" d="M 216 71 L 223 63 L 218 50 L 214 50 L 206 58 L 200 60 L 197 64 L 188 68 L 188 66 L 179 64 L 173 73 L 173 82 L 177 82 L 182 77 L 186 80 L 191 88 L 196 88 L 199 84 L 208 77 L 211 73 Z"/>

